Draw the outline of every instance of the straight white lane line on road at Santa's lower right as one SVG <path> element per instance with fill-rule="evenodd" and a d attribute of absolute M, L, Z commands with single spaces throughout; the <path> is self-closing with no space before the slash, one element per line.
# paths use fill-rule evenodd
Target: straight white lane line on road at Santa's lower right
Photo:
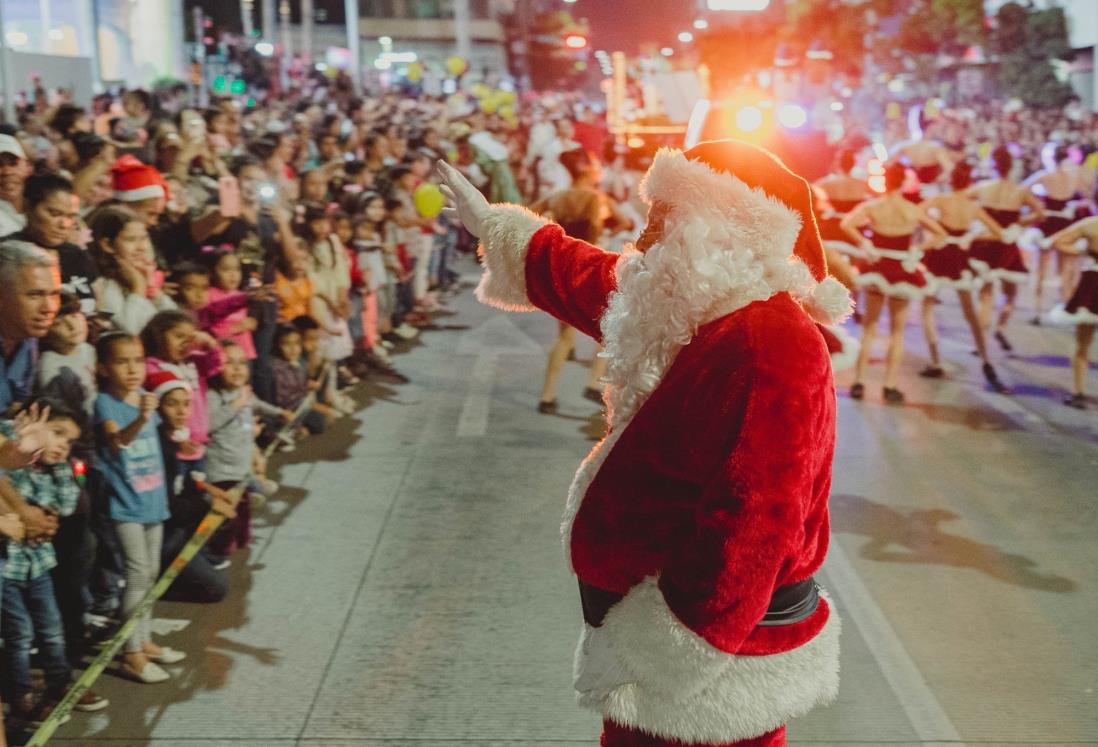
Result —
<path fill-rule="evenodd" d="M 834 538 L 828 548 L 824 569 L 832 582 L 827 591 L 838 597 L 847 611 L 843 622 L 858 628 L 919 739 L 964 745 L 960 732 L 934 698 L 919 667 Z"/>

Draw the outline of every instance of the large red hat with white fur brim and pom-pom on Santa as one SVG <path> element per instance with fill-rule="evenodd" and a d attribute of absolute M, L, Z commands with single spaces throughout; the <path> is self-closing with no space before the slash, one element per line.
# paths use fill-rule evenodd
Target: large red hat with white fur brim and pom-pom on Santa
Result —
<path fill-rule="evenodd" d="M 649 203 L 666 204 L 681 215 L 754 222 L 762 232 L 769 226 L 781 230 L 772 220 L 775 208 L 788 212 L 797 222 L 789 259 L 804 263 L 815 280 L 799 299 L 805 311 L 825 324 L 850 314 L 850 293 L 828 276 L 811 187 L 771 152 L 736 140 L 699 143 L 685 153 L 661 150 L 641 190 Z"/>

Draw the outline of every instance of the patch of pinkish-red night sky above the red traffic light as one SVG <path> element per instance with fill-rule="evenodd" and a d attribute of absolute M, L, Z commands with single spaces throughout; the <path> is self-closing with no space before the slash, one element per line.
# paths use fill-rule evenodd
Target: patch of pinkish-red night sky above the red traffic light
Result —
<path fill-rule="evenodd" d="M 692 31 L 694 0 L 579 0 L 570 9 L 591 21 L 595 49 L 637 52 L 646 42 L 672 44 L 680 31 Z"/>

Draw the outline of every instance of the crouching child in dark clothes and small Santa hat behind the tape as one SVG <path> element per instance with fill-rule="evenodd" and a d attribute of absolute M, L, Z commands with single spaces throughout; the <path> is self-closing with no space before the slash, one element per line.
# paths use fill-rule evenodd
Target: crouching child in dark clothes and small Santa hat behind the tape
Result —
<path fill-rule="evenodd" d="M 160 450 L 171 514 L 164 524 L 160 553 L 160 565 L 166 568 L 194 535 L 211 508 L 229 519 L 236 510 L 224 491 L 211 487 L 208 478 L 194 469 L 193 461 L 179 458 L 180 444 L 186 441 L 191 419 L 193 392 L 190 384 L 170 371 L 155 374 L 149 377 L 148 384 L 160 401 Z M 219 568 L 223 561 L 206 543 L 172 582 L 170 598 L 203 603 L 223 600 L 228 593 L 224 567 Z"/>

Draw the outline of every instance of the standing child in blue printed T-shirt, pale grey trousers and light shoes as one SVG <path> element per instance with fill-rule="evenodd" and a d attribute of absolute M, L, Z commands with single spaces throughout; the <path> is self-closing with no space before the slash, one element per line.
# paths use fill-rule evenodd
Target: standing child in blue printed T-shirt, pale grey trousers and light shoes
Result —
<path fill-rule="evenodd" d="M 97 354 L 100 391 L 96 398 L 96 469 L 102 476 L 110 519 L 125 561 L 122 615 L 128 617 L 156 582 L 164 521 L 168 519 L 164 456 L 157 434 L 159 403 L 155 394 L 142 389 L 147 361 L 137 337 L 125 333 L 104 335 Z M 126 642 L 122 672 L 138 682 L 164 682 L 168 672 L 157 662 L 176 664 L 184 655 L 154 644 L 150 622 L 148 612 Z"/>

